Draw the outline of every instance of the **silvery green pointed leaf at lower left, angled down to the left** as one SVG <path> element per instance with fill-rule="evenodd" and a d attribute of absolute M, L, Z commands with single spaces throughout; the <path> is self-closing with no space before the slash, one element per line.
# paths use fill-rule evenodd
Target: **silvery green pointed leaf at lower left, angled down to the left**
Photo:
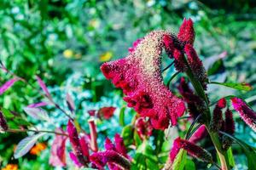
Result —
<path fill-rule="evenodd" d="M 15 149 L 15 159 L 24 156 L 45 133 L 38 133 L 22 139 Z"/>

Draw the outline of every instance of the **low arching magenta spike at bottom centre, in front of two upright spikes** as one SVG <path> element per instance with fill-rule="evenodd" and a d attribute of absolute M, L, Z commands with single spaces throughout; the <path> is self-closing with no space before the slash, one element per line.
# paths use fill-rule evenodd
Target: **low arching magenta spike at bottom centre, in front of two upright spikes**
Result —
<path fill-rule="evenodd" d="M 131 168 L 130 161 L 113 150 L 93 153 L 90 156 L 90 161 L 96 164 L 98 168 L 103 168 L 107 163 L 114 164 L 115 166 L 124 169 Z"/>

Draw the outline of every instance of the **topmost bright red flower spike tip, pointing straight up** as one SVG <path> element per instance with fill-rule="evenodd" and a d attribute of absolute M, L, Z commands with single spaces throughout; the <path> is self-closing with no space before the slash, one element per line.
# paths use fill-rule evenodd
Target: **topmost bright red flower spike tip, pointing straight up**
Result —
<path fill-rule="evenodd" d="M 193 21 L 191 19 L 183 20 L 182 26 L 179 28 L 177 38 L 184 43 L 189 43 L 193 45 L 195 41 L 195 31 L 193 27 Z"/>

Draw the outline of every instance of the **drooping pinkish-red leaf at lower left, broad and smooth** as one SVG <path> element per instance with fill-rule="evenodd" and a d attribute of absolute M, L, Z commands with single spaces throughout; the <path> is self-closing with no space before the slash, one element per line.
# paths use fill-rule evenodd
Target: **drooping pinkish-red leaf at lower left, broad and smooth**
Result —
<path fill-rule="evenodd" d="M 56 133 L 64 133 L 61 128 L 55 130 Z M 66 167 L 66 136 L 56 134 L 55 140 L 50 149 L 49 164 L 54 167 Z"/>

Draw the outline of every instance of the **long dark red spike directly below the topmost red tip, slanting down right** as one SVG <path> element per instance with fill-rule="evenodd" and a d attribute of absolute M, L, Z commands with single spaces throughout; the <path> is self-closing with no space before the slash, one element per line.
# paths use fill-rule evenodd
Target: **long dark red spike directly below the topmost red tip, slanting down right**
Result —
<path fill-rule="evenodd" d="M 189 66 L 194 76 L 201 82 L 203 88 L 207 89 L 207 72 L 201 62 L 201 59 L 199 59 L 198 55 L 196 54 L 195 49 L 192 45 L 186 44 L 184 51 L 188 56 Z"/>

